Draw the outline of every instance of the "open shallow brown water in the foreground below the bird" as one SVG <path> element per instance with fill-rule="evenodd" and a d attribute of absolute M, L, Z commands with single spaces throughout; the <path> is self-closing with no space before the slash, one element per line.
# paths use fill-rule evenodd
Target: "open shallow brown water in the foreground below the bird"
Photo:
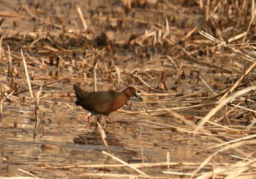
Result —
<path fill-rule="evenodd" d="M 132 99 L 133 103 L 138 99 Z M 140 105 L 138 102 L 137 105 Z M 56 113 L 48 113 L 45 117 L 50 118 L 34 129 L 35 122 L 29 118 L 31 115 L 23 115 L 23 120 L 18 120 L 18 128 L 12 128 L 17 121 L 17 116 L 10 118 L 7 115 L 1 120 L 1 176 L 23 175 L 17 169 L 33 172 L 37 177 L 61 178 L 70 175 L 83 176 L 83 172 L 93 172 L 95 169 L 72 169 L 61 170 L 40 170 L 43 165 L 64 166 L 72 164 L 104 164 L 107 156 L 102 154 L 106 151 L 103 145 L 101 134 L 95 128 L 95 120 L 91 123 L 89 132 L 86 132 L 87 121 L 81 117 L 85 111 L 75 104 L 70 103 L 73 110 L 61 116 L 61 124 L 58 125 Z M 10 110 L 10 109 L 9 109 Z M 167 161 L 167 151 L 170 152 L 172 162 L 199 162 L 205 157 L 194 154 L 198 149 L 205 147 L 206 139 L 199 137 L 193 140 L 189 134 L 172 132 L 167 129 L 151 129 L 140 121 L 151 121 L 147 115 L 124 115 L 112 113 L 110 120 L 129 120 L 132 124 L 110 123 L 105 126 L 110 151 L 114 156 L 128 162 L 141 163 L 143 151 L 143 162 L 154 163 Z M 163 120 L 164 119 L 164 120 Z M 171 118 L 159 118 L 158 123 L 168 123 L 170 126 L 178 126 Z M 105 119 L 101 119 L 105 123 Z M 9 126 L 9 127 L 7 127 Z M 141 132 L 141 139 L 140 139 Z M 207 145 L 207 144 L 206 144 Z M 7 161 L 4 161 L 7 159 Z M 111 163 L 116 163 L 113 159 Z M 114 173 L 131 174 L 133 171 L 127 168 L 114 168 Z M 151 169 L 144 168 L 143 172 L 148 175 L 159 175 L 166 167 Z M 133 172 L 134 173 L 134 172 Z"/>

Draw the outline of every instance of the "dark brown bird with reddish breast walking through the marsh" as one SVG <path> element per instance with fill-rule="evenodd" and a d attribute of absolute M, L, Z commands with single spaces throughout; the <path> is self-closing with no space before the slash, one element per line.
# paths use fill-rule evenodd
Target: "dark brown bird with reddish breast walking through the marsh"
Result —
<path fill-rule="evenodd" d="M 110 122 L 110 113 L 118 110 L 120 107 L 124 106 L 124 104 L 127 104 L 130 97 L 135 96 L 138 98 L 135 88 L 132 86 L 125 88 L 123 91 L 89 92 L 74 84 L 74 90 L 77 98 L 75 104 L 91 113 L 87 118 L 89 126 L 92 115 L 105 115 L 106 122 L 113 123 Z"/>

